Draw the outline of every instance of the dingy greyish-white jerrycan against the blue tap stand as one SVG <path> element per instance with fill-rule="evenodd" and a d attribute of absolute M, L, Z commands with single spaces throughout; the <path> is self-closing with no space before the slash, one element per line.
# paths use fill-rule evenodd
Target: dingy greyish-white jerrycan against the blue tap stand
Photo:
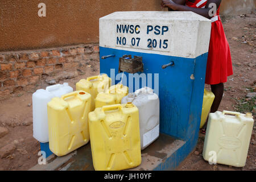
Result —
<path fill-rule="evenodd" d="M 139 109 L 141 150 L 159 137 L 159 98 L 151 88 L 144 87 L 122 98 L 121 104 L 132 102 Z"/>

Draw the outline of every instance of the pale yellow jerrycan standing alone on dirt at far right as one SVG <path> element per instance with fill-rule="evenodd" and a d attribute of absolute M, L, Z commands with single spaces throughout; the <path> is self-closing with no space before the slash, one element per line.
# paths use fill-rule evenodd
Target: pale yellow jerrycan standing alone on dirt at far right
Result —
<path fill-rule="evenodd" d="M 251 113 L 216 111 L 209 114 L 203 157 L 210 163 L 243 167 L 254 120 Z"/>

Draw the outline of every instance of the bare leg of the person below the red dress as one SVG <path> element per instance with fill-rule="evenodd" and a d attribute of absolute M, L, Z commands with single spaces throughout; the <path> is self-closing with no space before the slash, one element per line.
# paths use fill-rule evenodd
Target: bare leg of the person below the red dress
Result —
<path fill-rule="evenodd" d="M 218 110 L 218 106 L 220 106 L 220 103 L 222 100 L 222 96 L 223 96 L 223 92 L 224 92 L 224 84 L 220 83 L 220 84 L 216 84 L 216 85 L 210 85 L 210 88 L 212 89 L 212 92 L 215 96 L 213 103 L 212 103 L 212 107 L 210 107 L 210 113 L 215 113 Z M 202 133 L 205 133 L 205 131 L 207 129 L 207 122 L 208 122 L 208 119 L 205 122 L 203 129 L 201 130 Z"/>

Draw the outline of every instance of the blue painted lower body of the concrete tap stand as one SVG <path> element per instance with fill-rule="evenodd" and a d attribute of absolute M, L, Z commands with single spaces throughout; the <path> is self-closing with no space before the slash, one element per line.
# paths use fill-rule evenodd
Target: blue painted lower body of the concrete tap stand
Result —
<path fill-rule="evenodd" d="M 126 54 L 143 57 L 143 73 L 159 73 L 160 132 L 185 140 L 186 143 L 155 170 L 175 169 L 197 143 L 208 53 L 191 59 L 100 47 L 100 57 L 115 55 L 115 57 L 100 59 L 100 72 L 110 76 L 110 69 L 114 68 L 116 75 L 119 57 Z M 171 61 L 174 61 L 173 66 L 162 69 L 162 65 Z M 127 73 L 125 75 L 129 78 Z M 154 75 L 152 77 L 152 85 L 147 83 L 147 86 L 154 89 Z M 118 82 L 116 80 L 114 84 Z M 126 85 L 129 89 L 133 86 L 130 92 L 135 91 L 134 84 L 129 85 L 127 81 Z M 139 86 L 146 85 L 140 82 Z"/>

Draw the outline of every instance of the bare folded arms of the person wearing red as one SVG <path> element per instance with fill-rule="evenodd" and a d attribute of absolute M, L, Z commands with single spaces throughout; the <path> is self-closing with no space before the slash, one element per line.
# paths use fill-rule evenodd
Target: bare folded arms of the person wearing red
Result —
<path fill-rule="evenodd" d="M 210 3 L 215 3 L 216 10 L 217 10 L 218 7 L 220 6 L 221 0 L 208 0 L 204 9 L 179 5 L 171 0 L 162 0 L 161 5 L 163 7 L 168 7 L 170 9 L 176 10 L 176 11 L 193 11 L 196 14 L 200 14 L 200 15 L 204 16 L 205 18 L 210 19 L 210 18 L 212 18 L 212 16 L 209 15 L 209 11 L 212 9 L 212 7 L 209 7 Z M 216 12 L 214 12 L 214 13 L 216 13 Z"/>

